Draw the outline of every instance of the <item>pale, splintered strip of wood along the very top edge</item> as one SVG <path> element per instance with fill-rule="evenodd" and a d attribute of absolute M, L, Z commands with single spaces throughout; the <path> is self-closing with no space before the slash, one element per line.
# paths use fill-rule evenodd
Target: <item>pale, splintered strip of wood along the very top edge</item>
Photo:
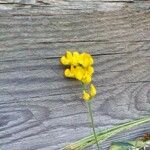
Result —
<path fill-rule="evenodd" d="M 34 0 L 33 0 L 34 1 Z M 23 1 L 22 1 L 23 2 Z M 21 2 L 21 3 L 22 3 Z M 19 15 L 30 15 L 31 12 L 36 14 L 43 14 L 45 15 L 51 14 L 79 14 L 79 13 L 93 13 L 93 12 L 115 12 L 115 11 L 122 11 L 124 9 L 134 10 L 134 11 L 143 11 L 149 9 L 149 1 L 132 1 L 132 0 L 119 0 L 117 1 L 51 1 L 50 4 L 47 3 L 33 3 L 33 4 L 21 4 L 21 3 L 1 3 L 0 6 L 11 8 L 13 10 L 13 14 Z M 40 6 L 40 7 L 39 7 Z M 0 10 L 7 10 L 0 7 Z M 24 8 L 24 10 L 20 9 L 16 11 L 16 8 Z M 27 8 L 27 9 L 26 9 Z M 29 11 L 29 8 L 31 9 Z M 44 8 L 44 9 L 43 9 Z M 6 15 L 6 14 L 3 14 Z"/>

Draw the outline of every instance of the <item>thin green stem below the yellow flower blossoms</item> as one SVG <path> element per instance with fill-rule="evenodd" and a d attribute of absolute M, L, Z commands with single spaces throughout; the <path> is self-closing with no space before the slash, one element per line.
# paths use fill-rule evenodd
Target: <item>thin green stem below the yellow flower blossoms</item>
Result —
<path fill-rule="evenodd" d="M 95 132 L 95 127 L 94 127 L 94 120 L 93 120 L 91 102 L 87 102 L 87 106 L 88 106 L 88 112 L 89 112 L 89 115 L 90 115 L 90 120 L 91 120 L 91 124 L 92 124 L 92 129 L 93 129 L 93 134 L 94 134 L 94 137 L 95 137 L 97 149 L 100 150 L 98 140 L 97 140 L 97 135 L 96 135 L 96 132 Z"/>

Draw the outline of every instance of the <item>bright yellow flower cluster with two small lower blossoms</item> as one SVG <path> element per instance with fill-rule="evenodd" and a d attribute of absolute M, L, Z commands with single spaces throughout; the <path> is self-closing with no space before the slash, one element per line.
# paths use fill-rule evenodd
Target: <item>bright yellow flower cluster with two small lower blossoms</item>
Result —
<path fill-rule="evenodd" d="M 91 83 L 94 68 L 92 67 L 93 58 L 89 53 L 67 51 L 60 61 L 63 65 L 67 66 L 64 72 L 66 77 L 75 78 L 83 84 Z M 90 85 L 90 94 L 83 90 L 83 99 L 86 101 L 95 95 L 96 89 L 93 84 Z"/>

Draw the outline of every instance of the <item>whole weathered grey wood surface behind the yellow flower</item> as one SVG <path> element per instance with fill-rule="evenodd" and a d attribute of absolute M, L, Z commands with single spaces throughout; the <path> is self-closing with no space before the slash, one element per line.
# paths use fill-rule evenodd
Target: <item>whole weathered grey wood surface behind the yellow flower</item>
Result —
<path fill-rule="evenodd" d="M 63 77 L 67 49 L 94 56 L 97 130 L 150 112 L 149 1 L 0 3 L 0 150 L 58 150 L 91 133 L 80 85 Z"/>

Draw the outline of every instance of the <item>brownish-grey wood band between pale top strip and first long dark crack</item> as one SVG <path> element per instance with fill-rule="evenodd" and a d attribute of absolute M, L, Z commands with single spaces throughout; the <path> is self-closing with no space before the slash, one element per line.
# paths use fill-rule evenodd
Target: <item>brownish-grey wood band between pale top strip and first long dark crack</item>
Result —
<path fill-rule="evenodd" d="M 27 13 L 30 16 L 19 14 L 19 16 L 1 17 L 0 39 L 2 47 L 12 47 L 12 45 L 24 43 L 31 45 L 31 43 L 53 42 L 99 41 L 109 43 L 150 40 L 149 11 L 138 13 L 121 11 L 121 15 L 117 11 L 117 13 L 111 12 L 111 14 L 49 16 L 50 14 L 44 11 L 41 14 L 40 10 L 35 10 L 32 12 L 32 9 L 28 9 Z M 35 14 L 36 16 L 32 16 Z"/>

